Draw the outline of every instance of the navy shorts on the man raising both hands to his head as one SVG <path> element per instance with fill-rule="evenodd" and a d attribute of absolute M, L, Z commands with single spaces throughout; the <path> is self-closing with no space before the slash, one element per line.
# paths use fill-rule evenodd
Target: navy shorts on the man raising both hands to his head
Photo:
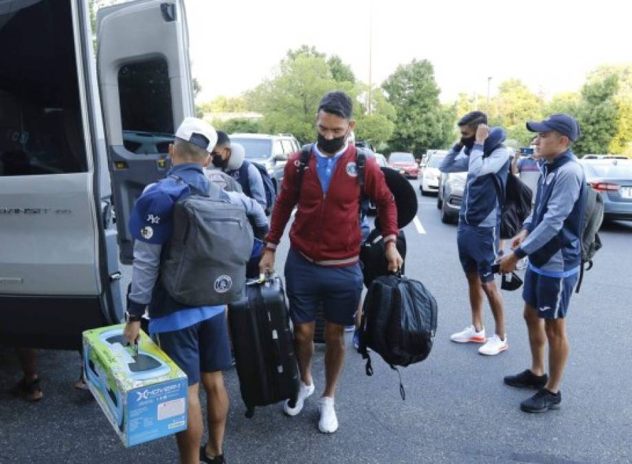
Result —
<path fill-rule="evenodd" d="M 483 283 L 494 280 L 492 265 L 496 261 L 498 249 L 496 228 L 477 227 L 459 222 L 456 240 L 463 272 L 477 272 Z"/>

